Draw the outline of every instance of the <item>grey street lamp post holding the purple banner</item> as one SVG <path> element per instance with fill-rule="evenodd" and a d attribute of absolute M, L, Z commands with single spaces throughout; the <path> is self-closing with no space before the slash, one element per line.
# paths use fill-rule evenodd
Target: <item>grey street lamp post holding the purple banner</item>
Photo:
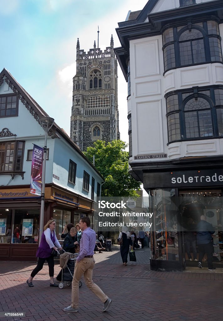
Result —
<path fill-rule="evenodd" d="M 39 229 L 39 244 L 43 233 L 44 219 L 44 201 L 45 201 L 45 176 L 46 176 L 46 159 L 47 159 L 47 133 L 53 126 L 54 119 L 51 117 L 40 117 L 40 125 L 45 131 L 45 144 L 43 148 L 43 171 L 42 171 L 42 188 L 41 188 L 41 207 L 40 207 L 40 229 Z"/>

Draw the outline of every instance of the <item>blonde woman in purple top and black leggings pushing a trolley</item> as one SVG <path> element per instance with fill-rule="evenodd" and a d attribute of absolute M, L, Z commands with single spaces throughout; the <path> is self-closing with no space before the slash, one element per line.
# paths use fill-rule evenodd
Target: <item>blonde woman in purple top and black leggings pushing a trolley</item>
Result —
<path fill-rule="evenodd" d="M 49 286 L 57 287 L 58 284 L 54 283 L 53 275 L 54 275 L 54 259 L 52 255 L 52 251 L 59 249 L 62 249 L 60 246 L 58 239 L 56 237 L 56 234 L 54 232 L 56 228 L 56 223 L 54 220 L 49 220 L 47 224 L 44 226 L 44 232 L 41 237 L 40 246 L 38 247 L 38 250 L 36 252 L 36 256 L 38 257 L 37 266 L 32 271 L 29 279 L 26 281 L 26 283 L 33 287 L 32 279 L 34 276 L 40 272 L 43 268 L 43 264 L 47 260 L 48 266 L 49 266 L 49 276 L 50 276 L 50 284 Z"/>

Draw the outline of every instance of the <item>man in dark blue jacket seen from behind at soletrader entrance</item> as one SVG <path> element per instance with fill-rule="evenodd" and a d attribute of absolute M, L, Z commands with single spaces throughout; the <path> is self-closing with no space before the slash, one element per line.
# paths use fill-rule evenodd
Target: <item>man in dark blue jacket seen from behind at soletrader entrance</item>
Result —
<path fill-rule="evenodd" d="M 207 218 L 201 215 L 201 221 L 197 224 L 197 245 L 199 251 L 198 267 L 202 269 L 202 258 L 207 254 L 208 258 L 208 271 L 214 271 L 216 268 L 213 266 L 213 242 L 212 234 L 214 234 L 213 226 L 206 222 Z"/>

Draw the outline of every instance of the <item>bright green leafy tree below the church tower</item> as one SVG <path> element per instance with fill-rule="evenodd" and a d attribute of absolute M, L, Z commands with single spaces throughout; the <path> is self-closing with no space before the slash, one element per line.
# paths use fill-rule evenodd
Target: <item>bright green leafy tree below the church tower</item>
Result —
<path fill-rule="evenodd" d="M 140 182 L 129 174 L 128 145 L 121 140 L 94 142 L 94 147 L 88 147 L 84 152 L 87 159 L 101 173 L 105 179 L 102 186 L 102 196 L 133 196 L 138 197 L 136 190 L 140 189 Z"/>

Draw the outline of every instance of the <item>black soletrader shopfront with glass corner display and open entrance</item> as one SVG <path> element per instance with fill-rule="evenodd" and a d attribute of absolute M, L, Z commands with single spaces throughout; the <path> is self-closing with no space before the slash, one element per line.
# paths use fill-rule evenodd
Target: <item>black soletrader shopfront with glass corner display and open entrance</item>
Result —
<path fill-rule="evenodd" d="M 213 263 L 223 267 L 223 170 L 199 168 L 144 172 L 150 207 L 151 269 L 183 271 L 198 266 L 196 225 L 204 215 L 212 224 Z M 207 266 L 204 256 L 202 265 Z"/>

